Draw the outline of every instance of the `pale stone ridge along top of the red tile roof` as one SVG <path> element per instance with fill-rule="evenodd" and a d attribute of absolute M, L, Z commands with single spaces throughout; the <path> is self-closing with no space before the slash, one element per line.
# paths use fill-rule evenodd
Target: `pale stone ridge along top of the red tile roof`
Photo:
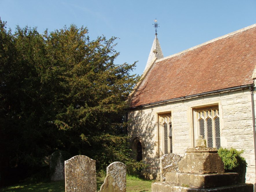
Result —
<path fill-rule="evenodd" d="M 256 23 L 253 24 L 253 25 L 250 25 L 250 26 L 248 26 L 248 27 L 244 27 L 244 28 L 242 28 L 242 29 L 239 29 L 239 30 L 237 30 L 237 31 L 231 32 L 231 33 L 229 33 L 229 34 L 226 34 L 226 35 L 223 35 L 223 36 L 214 38 L 214 39 L 209 40 L 209 41 L 207 41 L 207 42 L 205 42 L 205 43 L 202 43 L 202 44 L 196 45 L 196 46 L 194 46 L 194 47 L 191 47 L 191 48 L 189 48 L 189 49 L 185 49 L 184 51 L 181 51 L 181 52 L 178 52 L 178 53 L 174 53 L 173 55 L 170 55 L 170 56 L 167 56 L 167 57 L 158 59 L 158 60 L 156 60 L 156 63 L 159 62 L 159 61 L 163 61 L 163 60 L 165 60 L 165 59 L 169 59 L 169 58 L 172 58 L 172 57 L 181 55 L 181 54 L 183 54 L 183 53 L 186 53 L 186 52 L 188 52 L 188 51 L 197 49 L 197 48 L 202 47 L 202 46 L 204 46 L 204 45 L 213 43 L 213 42 L 215 42 L 215 41 L 217 41 L 217 40 L 224 39 L 224 38 L 233 36 L 233 35 L 235 35 L 235 34 L 238 34 L 238 33 L 244 32 L 244 31 L 247 31 L 247 30 L 252 29 L 252 28 L 254 28 L 254 27 L 256 27 Z"/>

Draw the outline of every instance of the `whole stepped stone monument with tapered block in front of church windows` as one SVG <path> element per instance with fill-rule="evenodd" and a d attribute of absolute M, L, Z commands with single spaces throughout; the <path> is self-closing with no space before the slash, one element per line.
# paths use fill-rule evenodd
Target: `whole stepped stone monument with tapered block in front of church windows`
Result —
<path fill-rule="evenodd" d="M 237 173 L 224 173 L 216 148 L 187 149 L 178 170 L 167 172 L 165 182 L 152 183 L 152 192 L 253 192 L 253 184 L 238 183 Z"/>

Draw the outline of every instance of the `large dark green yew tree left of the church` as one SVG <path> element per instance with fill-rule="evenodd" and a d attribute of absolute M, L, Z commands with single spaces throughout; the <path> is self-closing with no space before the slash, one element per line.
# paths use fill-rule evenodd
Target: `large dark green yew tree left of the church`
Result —
<path fill-rule="evenodd" d="M 0 19 L 0 167 L 32 168 L 56 150 L 106 168 L 130 159 L 124 136 L 134 64 L 114 64 L 115 37 L 90 40 L 71 25 L 39 34 Z M 129 168 L 130 169 L 130 168 Z M 133 169 L 133 168 L 131 168 Z M 2 176 L 1 176 L 2 177 Z"/>

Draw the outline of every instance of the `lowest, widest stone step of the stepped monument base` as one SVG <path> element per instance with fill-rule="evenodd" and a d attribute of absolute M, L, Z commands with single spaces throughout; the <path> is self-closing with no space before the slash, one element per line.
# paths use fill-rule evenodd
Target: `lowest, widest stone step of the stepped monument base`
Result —
<path fill-rule="evenodd" d="M 239 183 L 230 186 L 196 189 L 191 187 L 173 186 L 166 182 L 152 183 L 152 192 L 253 192 L 253 184 Z"/>

